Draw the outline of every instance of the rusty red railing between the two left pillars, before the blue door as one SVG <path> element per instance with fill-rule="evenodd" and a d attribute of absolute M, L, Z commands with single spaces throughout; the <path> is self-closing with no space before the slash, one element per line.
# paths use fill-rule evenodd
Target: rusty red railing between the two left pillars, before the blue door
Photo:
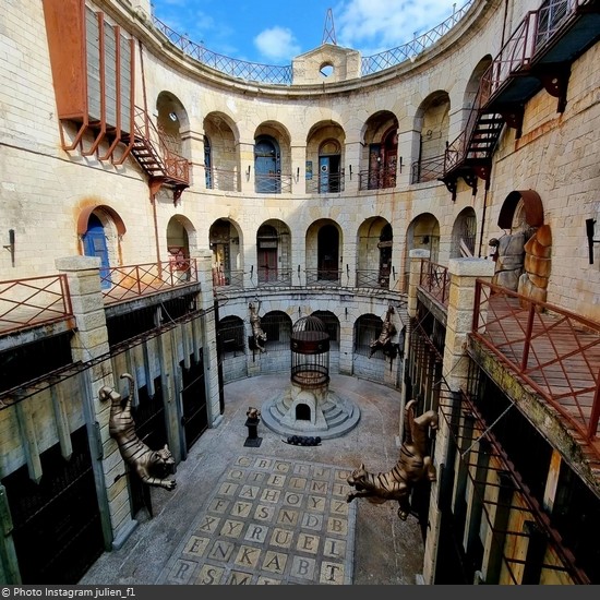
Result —
<path fill-rule="evenodd" d="M 100 269 L 100 283 L 106 304 L 132 300 L 185 284 L 197 283 L 195 259 L 182 262 L 160 262 L 115 266 Z"/>

